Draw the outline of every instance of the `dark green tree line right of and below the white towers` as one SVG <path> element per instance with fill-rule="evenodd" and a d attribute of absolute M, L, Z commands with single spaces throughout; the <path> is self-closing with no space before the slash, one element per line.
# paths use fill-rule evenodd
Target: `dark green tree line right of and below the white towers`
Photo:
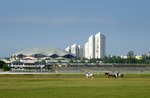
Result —
<path fill-rule="evenodd" d="M 127 53 L 126 58 L 121 56 L 105 56 L 102 59 L 80 59 L 80 63 L 85 63 L 85 61 L 88 61 L 88 63 L 120 63 L 120 64 L 150 64 L 150 55 L 142 55 L 140 58 L 136 58 L 136 55 L 134 54 L 134 51 L 129 51 Z M 71 61 L 73 62 L 73 60 Z"/>

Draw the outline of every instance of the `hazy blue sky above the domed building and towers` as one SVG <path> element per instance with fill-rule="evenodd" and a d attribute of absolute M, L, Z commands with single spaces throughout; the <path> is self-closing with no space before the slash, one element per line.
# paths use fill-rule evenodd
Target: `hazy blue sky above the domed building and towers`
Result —
<path fill-rule="evenodd" d="M 150 51 L 150 0 L 0 0 L 0 57 L 65 49 L 102 32 L 107 55 Z"/>

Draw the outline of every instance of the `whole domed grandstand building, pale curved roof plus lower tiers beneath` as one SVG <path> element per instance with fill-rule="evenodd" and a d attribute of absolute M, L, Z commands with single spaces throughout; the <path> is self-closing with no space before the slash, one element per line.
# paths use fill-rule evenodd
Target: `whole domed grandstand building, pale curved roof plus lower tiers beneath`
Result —
<path fill-rule="evenodd" d="M 71 58 L 75 58 L 75 55 L 56 48 L 29 48 L 12 54 L 10 67 L 22 70 L 40 69 L 57 64 L 58 61 L 68 63 Z"/>

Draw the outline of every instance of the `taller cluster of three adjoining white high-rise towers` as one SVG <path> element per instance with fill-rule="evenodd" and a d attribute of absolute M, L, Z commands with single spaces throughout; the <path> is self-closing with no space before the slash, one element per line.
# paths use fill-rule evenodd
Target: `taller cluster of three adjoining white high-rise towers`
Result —
<path fill-rule="evenodd" d="M 104 58 L 106 55 L 105 35 L 98 32 L 95 36 L 91 35 L 85 44 L 85 58 Z"/>

